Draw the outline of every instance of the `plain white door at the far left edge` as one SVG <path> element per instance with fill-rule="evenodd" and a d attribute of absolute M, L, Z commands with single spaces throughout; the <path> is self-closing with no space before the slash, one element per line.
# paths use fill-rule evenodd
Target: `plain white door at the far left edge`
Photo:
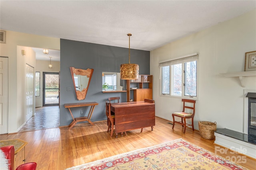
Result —
<path fill-rule="evenodd" d="M 0 134 L 8 133 L 8 57 L 0 57 Z"/>

